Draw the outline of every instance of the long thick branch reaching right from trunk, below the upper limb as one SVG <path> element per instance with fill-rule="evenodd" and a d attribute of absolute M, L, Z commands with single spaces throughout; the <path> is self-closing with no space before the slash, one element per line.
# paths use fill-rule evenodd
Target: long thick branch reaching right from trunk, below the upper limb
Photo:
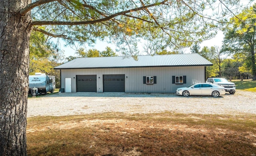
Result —
<path fill-rule="evenodd" d="M 54 1 L 54 0 L 52 0 Z M 122 12 L 118 12 L 116 14 L 112 14 L 110 16 L 107 16 L 105 18 L 101 18 L 101 19 L 98 19 L 98 20 L 91 20 L 91 21 L 80 21 L 80 22 L 65 22 L 65 21 L 34 21 L 32 22 L 32 25 L 33 26 L 42 26 L 42 25 L 84 25 L 84 24 L 94 24 L 94 23 L 98 23 L 98 22 L 103 22 L 103 21 L 107 21 L 107 20 L 110 20 L 116 16 L 120 16 L 120 15 L 125 15 L 129 12 L 135 12 L 135 11 L 138 11 L 138 10 L 143 10 L 143 9 L 146 9 L 146 8 L 149 8 L 149 7 L 152 7 L 152 6 L 158 6 L 160 4 L 164 4 L 165 2 L 167 2 L 168 0 L 164 0 L 162 2 L 159 2 L 159 3 L 154 3 L 154 4 L 150 4 L 150 5 L 147 5 L 147 6 L 142 6 L 142 7 L 139 7 L 139 8 L 134 8 L 134 9 L 130 9 L 130 10 L 126 10 L 126 11 L 122 11 Z"/>

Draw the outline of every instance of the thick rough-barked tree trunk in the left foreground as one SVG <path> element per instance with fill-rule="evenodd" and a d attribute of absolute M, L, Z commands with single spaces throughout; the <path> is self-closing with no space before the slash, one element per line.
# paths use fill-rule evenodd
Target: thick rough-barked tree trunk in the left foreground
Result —
<path fill-rule="evenodd" d="M 31 0 L 0 0 L 0 156 L 25 156 Z"/>

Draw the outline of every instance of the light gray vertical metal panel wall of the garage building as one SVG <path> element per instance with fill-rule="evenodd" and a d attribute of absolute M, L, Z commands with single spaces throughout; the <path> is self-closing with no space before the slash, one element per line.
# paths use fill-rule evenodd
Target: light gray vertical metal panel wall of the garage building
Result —
<path fill-rule="evenodd" d="M 61 88 L 65 78 L 72 78 L 72 92 L 76 92 L 76 75 L 97 75 L 97 92 L 103 92 L 104 74 L 125 74 L 125 92 L 174 93 L 176 88 L 205 82 L 204 66 L 99 68 L 61 70 Z M 156 84 L 143 84 L 143 76 L 156 76 Z M 186 76 L 186 84 L 172 84 L 172 76 Z"/>

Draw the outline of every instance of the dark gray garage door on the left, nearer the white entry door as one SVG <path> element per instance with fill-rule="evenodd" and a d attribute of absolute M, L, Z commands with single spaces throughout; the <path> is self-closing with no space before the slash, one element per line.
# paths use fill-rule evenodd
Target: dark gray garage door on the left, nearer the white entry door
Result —
<path fill-rule="evenodd" d="M 76 92 L 97 92 L 96 75 L 77 75 Z"/>

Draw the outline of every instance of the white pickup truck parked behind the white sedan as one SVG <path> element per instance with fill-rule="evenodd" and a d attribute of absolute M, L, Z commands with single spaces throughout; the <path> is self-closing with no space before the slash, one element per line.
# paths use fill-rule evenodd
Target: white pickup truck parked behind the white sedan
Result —
<path fill-rule="evenodd" d="M 225 88 L 226 92 L 229 92 L 230 94 L 235 94 L 236 92 L 236 85 L 225 78 L 208 78 L 206 83 L 222 86 Z"/>

